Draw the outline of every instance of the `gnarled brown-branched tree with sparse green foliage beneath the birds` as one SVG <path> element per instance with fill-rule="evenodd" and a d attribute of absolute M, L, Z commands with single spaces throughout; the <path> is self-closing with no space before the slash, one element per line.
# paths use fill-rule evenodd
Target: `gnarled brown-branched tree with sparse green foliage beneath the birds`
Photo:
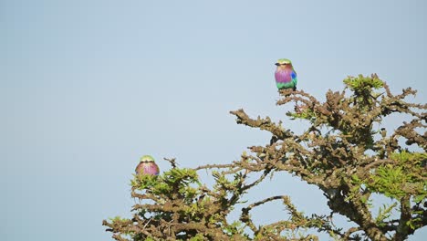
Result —
<path fill-rule="evenodd" d="M 280 91 L 277 105 L 295 103 L 295 111 L 286 113 L 289 119 L 309 123 L 301 134 L 285 130 L 281 121 L 231 111 L 238 124 L 269 131 L 270 143 L 250 147 L 250 154 L 243 152 L 229 164 L 180 169 L 168 160 L 172 169 L 160 176 L 134 176 L 131 196 L 140 202 L 133 205 L 133 216 L 104 220 L 103 225 L 117 240 L 318 240 L 315 235 L 286 235 L 301 228 L 338 240 L 406 239 L 427 225 L 427 133 L 420 133 L 425 131 L 427 106 L 405 100 L 415 95 L 411 88 L 393 95 L 376 74 L 349 77 L 344 84 L 340 92 L 328 90 L 323 103 L 303 90 Z M 405 114 L 411 121 L 395 130 L 380 129 L 392 114 Z M 212 187 L 200 182 L 200 170 L 212 170 Z M 286 194 L 245 204 L 244 194 L 266 176 L 282 172 L 318 186 L 330 215 L 304 215 Z M 373 215 L 371 194 L 393 202 Z M 275 200 L 291 218 L 255 225 L 251 211 Z M 236 204 L 245 207 L 239 220 L 229 222 L 227 215 Z M 356 226 L 336 227 L 332 219 L 337 214 Z"/>

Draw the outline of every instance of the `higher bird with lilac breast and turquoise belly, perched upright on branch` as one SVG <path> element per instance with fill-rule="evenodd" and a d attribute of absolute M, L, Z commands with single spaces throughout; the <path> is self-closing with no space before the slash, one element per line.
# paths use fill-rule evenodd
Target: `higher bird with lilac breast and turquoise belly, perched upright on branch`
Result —
<path fill-rule="evenodd" d="M 292 62 L 286 58 L 280 58 L 276 63 L 277 89 L 297 89 L 297 72 L 292 67 Z"/>

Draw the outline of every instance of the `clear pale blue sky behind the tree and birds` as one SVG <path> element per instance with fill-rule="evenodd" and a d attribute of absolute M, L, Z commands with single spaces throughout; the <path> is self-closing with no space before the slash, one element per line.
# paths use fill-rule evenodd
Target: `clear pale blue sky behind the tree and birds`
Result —
<path fill-rule="evenodd" d="M 2 240 L 111 240 L 101 221 L 130 216 L 141 155 L 165 170 L 163 157 L 195 167 L 266 144 L 228 111 L 286 120 L 277 58 L 320 100 L 376 72 L 425 103 L 426 11 L 422 0 L 1 0 Z M 251 198 L 290 194 L 306 214 L 328 214 L 316 187 L 285 173 L 265 186 Z"/>

